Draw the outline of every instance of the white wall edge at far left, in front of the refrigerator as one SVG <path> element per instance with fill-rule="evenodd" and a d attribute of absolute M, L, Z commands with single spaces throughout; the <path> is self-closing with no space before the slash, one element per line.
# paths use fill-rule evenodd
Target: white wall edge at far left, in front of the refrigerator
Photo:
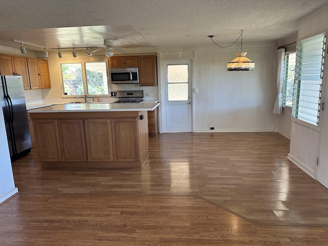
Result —
<path fill-rule="evenodd" d="M 18 192 L 15 188 L 5 128 L 4 113 L 0 107 L 0 203 Z"/>

